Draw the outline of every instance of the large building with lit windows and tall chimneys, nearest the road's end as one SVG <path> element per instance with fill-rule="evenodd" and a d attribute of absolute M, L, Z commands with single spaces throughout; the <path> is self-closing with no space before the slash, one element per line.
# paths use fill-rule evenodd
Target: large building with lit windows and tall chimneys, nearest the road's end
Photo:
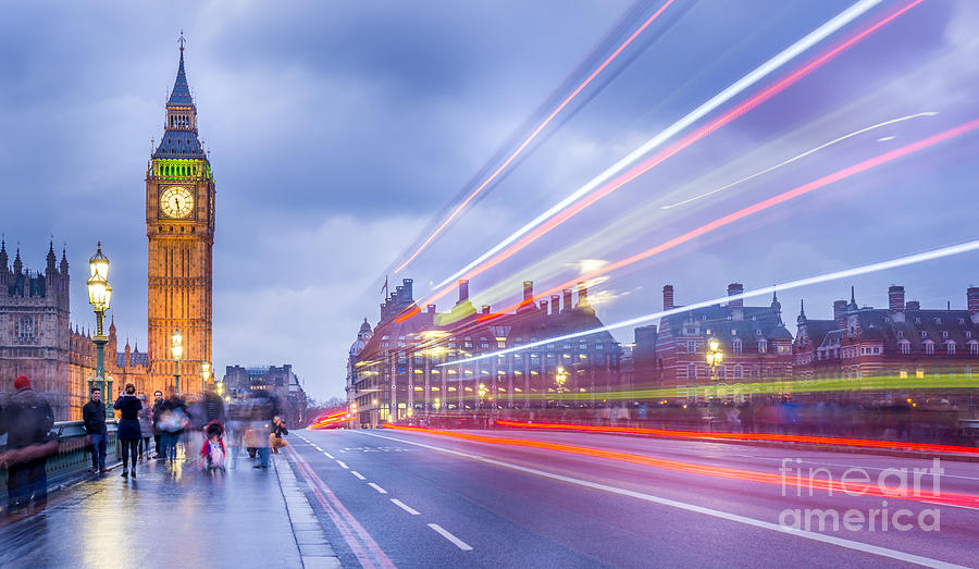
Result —
<path fill-rule="evenodd" d="M 475 409 L 600 405 L 602 393 L 622 388 L 621 349 L 605 331 L 442 366 L 602 326 L 583 285 L 577 304 L 571 289 L 535 302 L 530 281 L 523 298 L 512 313 L 494 314 L 490 306 L 476 311 L 469 283 L 461 281 L 448 312 L 437 313 L 434 305 L 417 310 L 412 281 L 405 279 L 381 305 L 373 333 L 361 325 L 358 342 L 364 343 L 351 347 L 347 394 L 356 425 Z M 401 314 L 411 316 L 398 322 Z"/>

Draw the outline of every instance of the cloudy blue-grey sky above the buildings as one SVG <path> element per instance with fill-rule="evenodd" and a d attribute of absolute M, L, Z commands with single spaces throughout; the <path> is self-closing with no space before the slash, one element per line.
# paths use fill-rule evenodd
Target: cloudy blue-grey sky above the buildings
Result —
<path fill-rule="evenodd" d="M 393 268 L 445 208 L 661 5 L 582 2 L 18 2 L 0 18 L 0 232 L 42 268 L 67 246 L 75 322 L 84 272 L 112 260 L 120 334 L 146 344 L 145 169 L 162 134 L 181 29 L 218 188 L 214 362 L 293 363 L 318 398 L 343 394 L 346 350 L 380 287 L 416 296 L 852 2 L 678 0 L 406 271 Z M 906 2 L 882 2 L 745 96 Z M 757 109 L 473 280 L 503 307 L 519 281 L 573 277 L 727 212 L 979 117 L 979 7 L 925 2 Z M 710 115 L 716 119 L 734 99 Z M 662 209 L 865 127 L 907 117 L 748 183 Z M 698 123 L 701 124 L 701 123 Z M 979 237 L 979 136 L 878 166 L 614 273 L 607 322 L 677 301 Z M 488 170 L 487 170 L 488 169 Z M 480 177 L 480 175 L 483 177 Z M 11 251 L 12 252 L 12 251 Z M 977 256 L 786 293 L 827 318 L 862 305 L 964 307 Z M 584 263 L 588 265 L 588 263 Z M 455 300 L 441 300 L 447 309 Z M 751 304 L 751 302 L 749 302 Z M 629 341 L 630 334 L 620 334 Z"/>

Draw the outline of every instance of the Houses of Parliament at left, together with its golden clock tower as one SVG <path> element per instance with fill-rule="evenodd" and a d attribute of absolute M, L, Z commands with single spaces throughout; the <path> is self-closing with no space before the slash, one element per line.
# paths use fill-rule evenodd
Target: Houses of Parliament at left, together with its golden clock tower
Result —
<path fill-rule="evenodd" d="M 146 170 L 148 239 L 148 346 L 119 346 L 115 322 L 106 346 L 107 379 L 114 396 L 132 382 L 148 395 L 174 387 L 170 336 L 183 335 L 184 392 L 198 391 L 201 363 L 211 361 L 211 251 L 214 243 L 214 177 L 197 134 L 197 108 L 184 70 L 181 38 L 176 81 L 166 101 L 164 133 Z M 59 261 L 50 244 L 44 272 L 32 271 L 20 247 L 10 260 L 0 242 L 0 391 L 17 375 L 30 378 L 57 420 L 82 418 L 88 378 L 95 376 L 91 334 L 71 323 L 66 251 Z"/>

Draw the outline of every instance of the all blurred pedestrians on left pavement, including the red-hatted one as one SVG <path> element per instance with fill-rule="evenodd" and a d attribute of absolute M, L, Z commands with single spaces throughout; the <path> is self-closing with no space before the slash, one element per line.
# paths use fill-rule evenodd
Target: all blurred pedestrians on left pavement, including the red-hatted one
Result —
<path fill-rule="evenodd" d="M 13 387 L 11 393 L 0 392 L 0 435 L 7 435 L 5 447 L 0 447 L 0 469 L 8 475 L 8 512 L 20 514 L 32 503 L 36 509 L 45 507 L 47 462 L 59 452 L 61 433 L 54 430 L 51 406 L 28 378 L 17 378 Z M 174 389 L 164 397 L 158 391 L 150 403 L 127 383 L 111 407 L 107 408 L 103 396 L 99 387 L 92 388 L 82 408 L 85 448 L 91 458 L 88 470 L 96 478 L 109 472 L 107 456 L 113 438 L 121 477 L 126 479 L 137 477 L 140 461 L 153 459 L 168 467 L 190 460 L 203 469 L 223 471 L 228 446 L 234 455 L 247 452 L 256 459 L 253 468 L 268 469 L 270 453 L 286 446 L 288 430 L 280 417 L 280 401 L 268 392 L 249 392 L 225 403 L 213 391 L 186 397 Z M 114 436 L 107 419 L 116 420 Z"/>

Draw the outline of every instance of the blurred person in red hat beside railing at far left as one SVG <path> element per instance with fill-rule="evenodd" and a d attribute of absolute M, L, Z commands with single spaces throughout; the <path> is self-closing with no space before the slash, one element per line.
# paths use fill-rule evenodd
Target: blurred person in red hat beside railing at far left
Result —
<path fill-rule="evenodd" d="M 48 456 L 52 447 L 58 450 L 57 440 L 48 436 L 54 426 L 54 413 L 48 400 L 34 391 L 25 375 L 14 380 L 14 389 L 3 412 L 5 424 L 0 425 L 7 431 L 9 514 L 26 508 L 32 497 L 37 506 L 44 507 L 48 498 Z"/>

